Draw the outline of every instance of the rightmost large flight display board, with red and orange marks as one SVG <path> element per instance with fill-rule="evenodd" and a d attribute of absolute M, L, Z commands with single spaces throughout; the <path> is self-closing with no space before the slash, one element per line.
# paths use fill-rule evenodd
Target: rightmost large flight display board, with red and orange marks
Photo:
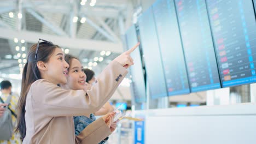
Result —
<path fill-rule="evenodd" d="M 252 1 L 206 1 L 223 87 L 256 82 Z"/>

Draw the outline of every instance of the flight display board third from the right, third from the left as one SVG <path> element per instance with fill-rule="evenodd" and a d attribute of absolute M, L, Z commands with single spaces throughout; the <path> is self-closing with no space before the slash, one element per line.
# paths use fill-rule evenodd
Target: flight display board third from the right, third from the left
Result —
<path fill-rule="evenodd" d="M 156 1 L 153 4 L 153 13 L 168 95 L 189 93 L 188 76 L 174 2 L 170 0 Z"/>

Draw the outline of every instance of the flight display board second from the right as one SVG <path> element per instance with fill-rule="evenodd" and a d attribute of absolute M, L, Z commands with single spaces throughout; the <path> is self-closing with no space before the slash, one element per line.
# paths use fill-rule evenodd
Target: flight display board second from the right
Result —
<path fill-rule="evenodd" d="M 175 0 L 191 92 L 220 88 L 206 3 Z"/>

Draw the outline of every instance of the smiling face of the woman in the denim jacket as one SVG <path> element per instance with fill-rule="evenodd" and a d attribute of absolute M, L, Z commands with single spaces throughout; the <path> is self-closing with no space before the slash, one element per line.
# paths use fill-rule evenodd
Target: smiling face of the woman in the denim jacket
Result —
<path fill-rule="evenodd" d="M 65 88 L 73 90 L 84 89 L 86 75 L 84 74 L 84 71 L 82 69 L 83 66 L 78 61 L 78 59 L 72 58 L 67 73 L 68 76 L 67 83 L 64 86 Z"/>

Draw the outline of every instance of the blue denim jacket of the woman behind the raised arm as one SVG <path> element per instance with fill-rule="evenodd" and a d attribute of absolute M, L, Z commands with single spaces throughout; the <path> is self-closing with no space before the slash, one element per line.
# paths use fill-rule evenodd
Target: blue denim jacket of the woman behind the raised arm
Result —
<path fill-rule="evenodd" d="M 79 135 L 80 132 L 84 130 L 85 127 L 87 127 L 90 123 L 94 122 L 95 120 L 96 120 L 96 117 L 92 113 L 90 115 L 90 118 L 86 116 L 75 116 L 74 117 L 75 135 Z M 108 137 L 102 140 L 99 144 L 106 143 L 107 140 L 108 140 Z"/>

